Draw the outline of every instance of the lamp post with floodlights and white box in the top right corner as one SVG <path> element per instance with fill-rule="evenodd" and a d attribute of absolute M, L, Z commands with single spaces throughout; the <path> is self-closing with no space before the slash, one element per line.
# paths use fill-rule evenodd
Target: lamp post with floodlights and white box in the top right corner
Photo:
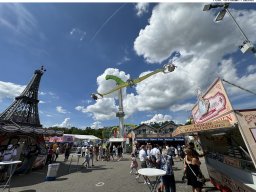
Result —
<path fill-rule="evenodd" d="M 243 32 L 243 30 L 241 29 L 241 27 L 238 25 L 238 23 L 236 22 L 235 18 L 233 17 L 233 15 L 230 13 L 230 11 L 228 10 L 229 7 L 229 3 L 224 3 L 224 4 L 208 4 L 205 5 L 203 8 L 203 11 L 209 11 L 210 9 L 214 9 L 214 8 L 223 8 L 215 17 L 214 21 L 216 23 L 220 22 L 223 20 L 223 18 L 225 17 L 226 13 L 229 14 L 229 16 L 232 18 L 232 20 L 235 22 L 237 28 L 239 29 L 239 31 L 241 32 L 241 34 L 244 37 L 244 42 L 242 45 L 239 46 L 240 50 L 242 51 L 242 53 L 246 53 L 248 51 L 252 51 L 254 53 L 254 55 L 256 55 L 256 49 L 253 46 L 253 44 L 250 42 L 250 40 L 247 38 L 247 36 L 245 35 L 245 33 Z"/>

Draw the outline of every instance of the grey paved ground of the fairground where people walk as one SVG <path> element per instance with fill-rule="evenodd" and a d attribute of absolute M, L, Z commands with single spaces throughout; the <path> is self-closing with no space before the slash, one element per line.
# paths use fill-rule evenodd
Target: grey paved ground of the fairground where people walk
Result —
<path fill-rule="evenodd" d="M 47 168 L 34 170 L 28 175 L 15 175 L 12 179 L 12 192 L 149 192 L 142 178 L 137 181 L 135 175 L 130 175 L 129 155 L 125 155 L 122 161 L 97 161 L 95 166 L 89 169 L 77 171 L 75 163 L 68 172 L 69 164 L 63 162 L 63 156 L 59 157 L 61 163 L 58 178 L 55 181 L 45 181 Z M 208 178 L 204 160 L 202 161 L 202 171 Z M 182 162 L 178 159 L 175 162 L 175 179 L 177 192 L 191 192 L 191 186 L 181 181 Z M 80 160 L 80 164 L 82 160 Z M 99 186 L 97 186 L 97 184 Z M 204 186 L 204 191 L 215 192 L 210 182 Z M 6 190 L 7 191 L 7 190 Z"/>

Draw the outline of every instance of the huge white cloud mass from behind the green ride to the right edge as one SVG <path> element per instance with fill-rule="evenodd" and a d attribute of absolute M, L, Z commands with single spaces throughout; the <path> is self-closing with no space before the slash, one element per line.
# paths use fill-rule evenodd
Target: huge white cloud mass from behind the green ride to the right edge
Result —
<path fill-rule="evenodd" d="M 217 76 L 256 91 L 254 67 L 248 66 L 249 74 L 241 73 L 238 70 L 239 61 L 232 59 L 232 53 L 239 51 L 243 39 L 239 31 L 235 30 L 231 18 L 226 15 L 223 22 L 213 23 L 214 13 L 203 12 L 202 8 L 203 4 L 200 3 L 162 3 L 154 7 L 148 25 L 140 30 L 134 41 L 134 50 L 148 63 L 174 61 L 178 67 L 174 72 L 158 73 L 140 82 L 134 87 L 134 93 L 126 94 L 124 89 L 126 118 L 139 111 L 187 111 L 193 106 L 187 101 L 196 97 L 195 90 L 205 90 Z M 256 17 L 256 11 L 230 11 L 241 27 L 246 29 L 249 39 L 255 42 L 256 21 L 252 18 Z M 229 58 L 224 57 L 226 55 Z M 140 76 L 149 72 L 142 72 Z M 105 80 L 106 74 L 122 74 L 120 76 L 124 81 L 130 78 L 129 74 L 117 69 L 106 69 L 97 78 L 100 93 L 115 86 L 114 81 Z M 241 90 L 234 87 L 228 88 L 228 91 L 231 95 L 241 93 Z M 116 118 L 116 94 L 104 98 L 109 99 L 108 105 L 104 104 L 104 100 L 97 100 L 95 104 L 86 107 L 85 112 L 93 113 L 97 120 Z M 102 113 L 104 116 L 101 116 Z"/>

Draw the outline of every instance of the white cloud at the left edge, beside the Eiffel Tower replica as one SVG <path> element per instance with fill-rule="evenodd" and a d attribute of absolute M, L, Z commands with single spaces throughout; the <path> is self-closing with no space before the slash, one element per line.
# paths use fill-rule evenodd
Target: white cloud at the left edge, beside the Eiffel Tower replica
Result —
<path fill-rule="evenodd" d="M 0 81 L 0 102 L 6 98 L 13 99 L 20 95 L 25 88 L 25 85 L 17 85 L 11 82 Z"/>

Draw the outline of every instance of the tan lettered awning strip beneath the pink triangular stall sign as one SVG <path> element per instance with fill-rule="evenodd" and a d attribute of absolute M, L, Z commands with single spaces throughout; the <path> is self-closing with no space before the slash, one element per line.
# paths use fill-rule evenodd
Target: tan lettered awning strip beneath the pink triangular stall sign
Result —
<path fill-rule="evenodd" d="M 172 136 L 176 137 L 178 135 L 188 135 L 190 133 L 195 133 L 195 132 L 208 131 L 208 130 L 214 130 L 214 129 L 222 129 L 222 128 L 230 128 L 230 127 L 232 127 L 232 125 L 230 124 L 230 122 L 228 120 L 209 121 L 207 123 L 179 126 L 172 133 Z"/>

